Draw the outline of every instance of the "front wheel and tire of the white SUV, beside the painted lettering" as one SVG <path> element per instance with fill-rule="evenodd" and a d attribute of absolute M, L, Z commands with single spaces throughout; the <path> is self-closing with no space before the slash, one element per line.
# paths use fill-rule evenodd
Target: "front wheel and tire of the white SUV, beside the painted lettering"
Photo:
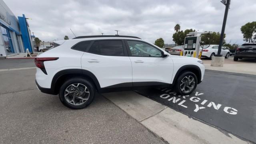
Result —
<path fill-rule="evenodd" d="M 192 87 L 192 85 L 189 85 L 189 80 L 186 80 L 186 78 L 189 78 L 190 80 L 194 78 L 194 82 L 190 83 L 193 85 L 192 89 L 186 87 L 186 84 L 188 84 L 189 87 Z M 175 91 L 180 93 L 181 95 L 191 94 L 196 89 L 197 82 L 198 82 L 197 77 L 193 72 L 184 71 L 182 74 L 180 74 L 180 76 L 176 80 Z M 182 87 L 184 87 L 185 89 L 182 89 Z"/>

